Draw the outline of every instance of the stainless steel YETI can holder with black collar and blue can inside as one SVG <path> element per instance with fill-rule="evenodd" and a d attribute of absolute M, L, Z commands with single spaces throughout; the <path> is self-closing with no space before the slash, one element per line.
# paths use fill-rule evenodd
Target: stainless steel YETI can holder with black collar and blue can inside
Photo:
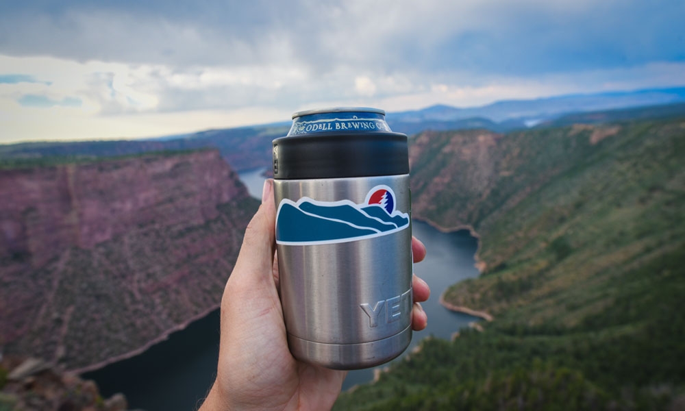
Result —
<path fill-rule="evenodd" d="M 383 110 L 298 112 L 273 140 L 279 291 L 295 358 L 360 369 L 412 339 L 407 136 Z"/>

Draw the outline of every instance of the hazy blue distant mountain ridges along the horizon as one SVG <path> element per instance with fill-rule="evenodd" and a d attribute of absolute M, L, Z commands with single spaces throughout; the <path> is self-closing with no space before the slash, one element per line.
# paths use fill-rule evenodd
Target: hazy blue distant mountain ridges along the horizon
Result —
<path fill-rule="evenodd" d="M 505 133 L 515 129 L 549 127 L 557 119 L 596 123 L 591 112 L 607 112 L 602 121 L 621 116 L 620 110 L 640 110 L 646 119 L 651 116 L 675 115 L 685 112 L 685 87 L 654 88 L 628 92 L 605 92 L 588 95 L 565 95 L 529 100 L 496 101 L 482 107 L 456 108 L 433 105 L 422 110 L 388 112 L 386 119 L 395 132 L 408 135 L 427 129 L 436 131 L 455 129 L 488 129 Z M 670 108 L 668 105 L 672 105 Z M 649 109 L 653 108 L 653 109 Z M 649 110 L 648 110 L 649 109 Z M 202 147 L 219 149 L 223 158 L 237 171 L 268 167 L 271 164 L 271 140 L 285 136 L 287 122 L 253 125 L 229 129 L 210 129 L 179 136 L 166 136 L 142 140 L 103 140 L 77 142 L 22 142 L 0 145 L 0 168 L 49 156 L 69 158 L 98 158 L 112 155 L 130 155 L 147 151 L 187 150 Z"/>

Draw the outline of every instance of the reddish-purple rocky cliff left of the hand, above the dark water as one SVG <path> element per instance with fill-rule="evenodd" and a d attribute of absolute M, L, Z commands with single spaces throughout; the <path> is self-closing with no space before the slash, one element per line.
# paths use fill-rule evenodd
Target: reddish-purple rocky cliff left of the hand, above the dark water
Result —
<path fill-rule="evenodd" d="M 256 200 L 216 150 L 0 171 L 0 346 L 89 369 L 216 308 Z"/>

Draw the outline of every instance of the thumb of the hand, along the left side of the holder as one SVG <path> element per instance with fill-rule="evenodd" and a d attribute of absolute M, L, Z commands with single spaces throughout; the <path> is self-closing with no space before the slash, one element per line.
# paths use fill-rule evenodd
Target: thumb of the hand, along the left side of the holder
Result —
<path fill-rule="evenodd" d="M 232 276 L 273 278 L 271 270 L 275 250 L 275 214 L 273 179 L 266 179 L 262 188 L 262 205 L 245 229 Z"/>

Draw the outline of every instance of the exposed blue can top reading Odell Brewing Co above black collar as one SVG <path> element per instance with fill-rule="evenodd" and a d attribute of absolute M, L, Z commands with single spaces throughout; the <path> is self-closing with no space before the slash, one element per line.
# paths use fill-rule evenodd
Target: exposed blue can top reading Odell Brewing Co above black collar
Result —
<path fill-rule="evenodd" d="M 329 132 L 390 132 L 385 111 L 368 107 L 334 107 L 292 114 L 288 136 Z"/>

